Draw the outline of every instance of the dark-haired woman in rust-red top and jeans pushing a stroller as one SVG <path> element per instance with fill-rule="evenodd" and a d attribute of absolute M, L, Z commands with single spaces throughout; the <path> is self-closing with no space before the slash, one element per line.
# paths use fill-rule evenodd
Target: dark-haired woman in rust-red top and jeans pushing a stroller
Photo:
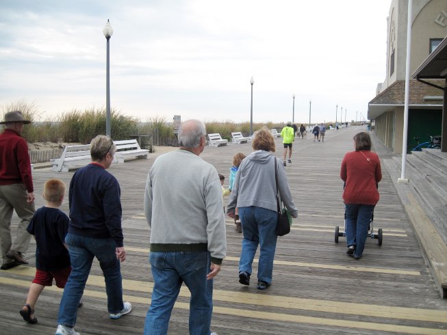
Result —
<path fill-rule="evenodd" d="M 372 211 L 379 201 L 377 185 L 382 179 L 382 170 L 379 157 L 371 152 L 368 133 L 354 136 L 354 148 L 355 151 L 344 156 L 340 177 L 345 183 L 346 253 L 359 259 L 365 247 Z"/>

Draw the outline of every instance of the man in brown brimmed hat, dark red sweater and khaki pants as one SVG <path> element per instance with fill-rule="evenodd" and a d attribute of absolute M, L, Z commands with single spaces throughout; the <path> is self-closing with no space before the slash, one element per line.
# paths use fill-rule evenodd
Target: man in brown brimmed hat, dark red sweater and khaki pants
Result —
<path fill-rule="evenodd" d="M 31 235 L 27 226 L 34 214 L 34 188 L 28 145 L 21 137 L 23 126 L 29 124 L 21 111 L 5 113 L 5 131 L 0 134 L 0 246 L 2 270 L 28 264 L 23 253 L 28 250 Z M 12 243 L 11 219 L 15 210 L 21 222 Z"/>

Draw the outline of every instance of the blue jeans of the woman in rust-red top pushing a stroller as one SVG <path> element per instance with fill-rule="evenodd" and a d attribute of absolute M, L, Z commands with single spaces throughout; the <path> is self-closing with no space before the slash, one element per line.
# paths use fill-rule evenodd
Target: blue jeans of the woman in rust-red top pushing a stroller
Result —
<path fill-rule="evenodd" d="M 365 249 L 366 237 L 374 205 L 345 204 L 346 206 L 346 243 L 355 246 L 354 256 L 360 257 Z"/>

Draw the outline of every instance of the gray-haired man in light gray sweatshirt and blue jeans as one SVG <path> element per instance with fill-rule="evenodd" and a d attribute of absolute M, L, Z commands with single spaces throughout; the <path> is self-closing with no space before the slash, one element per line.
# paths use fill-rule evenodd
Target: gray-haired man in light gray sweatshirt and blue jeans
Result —
<path fill-rule="evenodd" d="M 183 122 L 180 150 L 159 156 L 146 181 L 144 215 L 151 227 L 154 286 L 145 335 L 168 332 L 183 282 L 191 292 L 190 334 L 210 334 L 213 278 L 225 258 L 227 241 L 219 176 L 199 157 L 205 134 L 203 122 Z"/>

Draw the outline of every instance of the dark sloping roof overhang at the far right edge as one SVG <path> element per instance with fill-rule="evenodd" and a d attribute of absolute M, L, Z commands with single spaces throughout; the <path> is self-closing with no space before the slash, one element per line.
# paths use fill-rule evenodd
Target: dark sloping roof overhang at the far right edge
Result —
<path fill-rule="evenodd" d="M 447 37 L 411 75 L 416 79 L 447 78 Z"/>

